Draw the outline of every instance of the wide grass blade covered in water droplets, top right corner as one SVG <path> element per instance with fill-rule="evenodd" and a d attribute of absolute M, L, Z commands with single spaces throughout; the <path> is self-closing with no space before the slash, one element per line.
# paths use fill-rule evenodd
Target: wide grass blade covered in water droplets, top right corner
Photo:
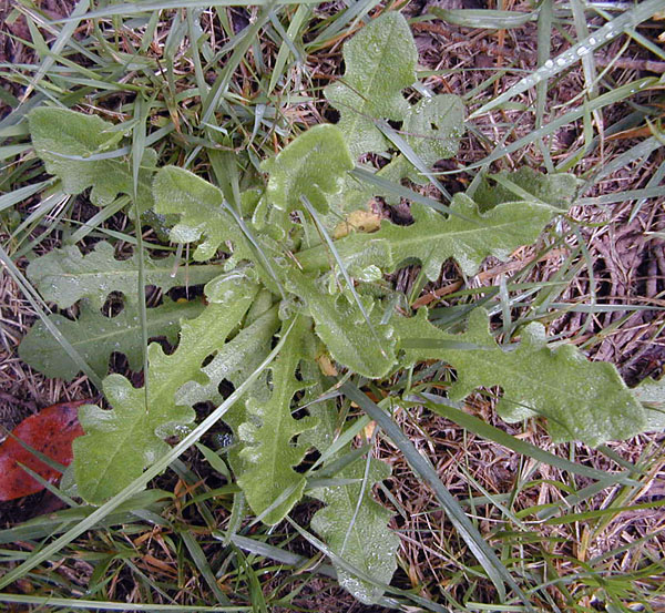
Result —
<path fill-rule="evenodd" d="M 544 79 L 550 79 L 559 74 L 563 70 L 579 62 L 587 53 L 593 53 L 593 51 L 603 44 L 608 43 L 611 40 L 623 34 L 627 30 L 640 25 L 640 23 L 646 21 L 662 10 L 663 0 L 646 0 L 645 2 L 635 4 L 634 7 L 627 9 L 623 14 L 613 19 L 608 23 L 605 23 L 605 25 L 602 28 L 598 28 L 592 35 L 574 44 L 571 49 L 560 53 L 555 60 L 551 60 L 550 63 L 545 62 L 545 64 L 539 68 L 535 72 L 519 81 L 508 91 L 483 104 L 480 109 L 471 113 L 469 119 L 475 119 L 484 113 L 488 113 L 492 109 L 504 104 L 511 98 L 521 94 L 530 88 L 533 88 L 536 83 L 540 83 Z"/>

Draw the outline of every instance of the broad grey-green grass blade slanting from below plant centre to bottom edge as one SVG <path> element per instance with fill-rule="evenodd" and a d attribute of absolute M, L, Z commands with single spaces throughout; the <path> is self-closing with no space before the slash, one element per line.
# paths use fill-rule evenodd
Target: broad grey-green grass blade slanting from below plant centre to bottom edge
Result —
<path fill-rule="evenodd" d="M 482 568 L 488 573 L 502 601 L 505 600 L 505 583 L 508 583 L 524 602 L 526 596 L 515 583 L 514 579 L 501 563 L 494 551 L 488 545 L 478 532 L 478 529 L 471 523 L 459 502 L 443 487 L 437 471 L 413 447 L 413 443 L 406 437 L 395 421 L 365 394 L 362 394 L 350 381 L 340 387 L 340 391 L 356 402 L 371 419 L 374 419 L 392 440 L 392 442 L 405 454 L 405 458 L 411 464 L 413 470 L 432 488 L 434 495 L 446 509 L 450 521 L 460 532 L 461 538 L 469 545 Z M 529 605 L 529 610 L 533 611 Z"/>

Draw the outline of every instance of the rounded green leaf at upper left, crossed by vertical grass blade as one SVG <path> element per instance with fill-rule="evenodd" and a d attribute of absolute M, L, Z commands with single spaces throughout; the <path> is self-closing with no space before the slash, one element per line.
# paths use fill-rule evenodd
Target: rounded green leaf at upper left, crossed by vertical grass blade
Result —
<path fill-rule="evenodd" d="M 117 194 L 133 196 L 132 168 L 125 159 L 85 160 L 114 149 L 119 133 L 112 123 L 96 115 L 52 108 L 34 109 L 28 122 L 37 154 L 47 171 L 62 181 L 65 193 L 80 194 L 92 187 L 90 201 L 96 206 L 110 204 Z M 137 186 L 141 211 L 153 206 L 151 178 L 156 157 L 152 149 L 143 154 Z"/>

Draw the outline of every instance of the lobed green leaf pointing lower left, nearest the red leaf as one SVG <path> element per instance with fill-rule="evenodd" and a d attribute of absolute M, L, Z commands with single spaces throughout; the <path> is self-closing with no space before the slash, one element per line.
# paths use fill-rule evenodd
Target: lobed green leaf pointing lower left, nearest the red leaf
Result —
<path fill-rule="evenodd" d="M 165 437 L 193 421 L 194 411 L 177 406 L 175 392 L 201 377 L 203 361 L 224 345 L 256 295 L 256 286 L 234 277 L 215 289 L 216 295 L 208 294 L 212 304 L 196 319 L 183 321 L 172 355 L 160 345 L 149 347 L 147 406 L 145 389 L 111 375 L 104 380 L 104 395 L 113 409 L 81 410 L 86 433 L 74 442 L 73 464 L 79 493 L 88 502 L 99 504 L 121 491 L 168 450 Z"/>

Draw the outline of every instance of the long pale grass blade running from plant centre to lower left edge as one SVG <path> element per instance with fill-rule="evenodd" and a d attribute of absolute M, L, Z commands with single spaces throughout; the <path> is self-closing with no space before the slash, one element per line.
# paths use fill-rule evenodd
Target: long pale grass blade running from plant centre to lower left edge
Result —
<path fill-rule="evenodd" d="M 1 254 L 2 252 L 0 252 Z M 207 432 L 217 421 L 226 413 L 235 402 L 248 390 L 252 388 L 254 382 L 260 377 L 260 374 L 268 367 L 268 365 L 275 359 L 275 357 L 282 350 L 288 335 L 291 330 L 293 326 L 289 327 L 284 336 L 279 339 L 275 348 L 270 351 L 270 354 L 266 357 L 265 360 L 254 370 L 254 372 L 247 377 L 247 379 L 241 384 L 236 390 L 232 392 L 232 395 L 222 402 L 214 411 L 211 412 L 208 417 L 206 417 L 198 426 L 196 426 L 188 435 L 186 435 L 181 442 L 174 446 L 168 453 L 164 457 L 160 458 L 152 467 L 143 472 L 141 477 L 135 479 L 130 486 L 127 486 L 123 491 L 115 494 L 111 500 L 100 507 L 96 511 L 88 515 L 84 520 L 79 522 L 75 527 L 70 529 L 62 537 L 44 546 L 43 549 L 35 551 L 25 562 L 23 562 L 20 566 L 12 569 L 4 576 L 0 578 L 0 590 L 6 588 L 7 585 L 13 583 L 21 576 L 24 576 L 25 573 L 30 572 L 32 569 L 48 560 L 51 555 L 59 552 L 63 546 L 68 545 L 72 542 L 76 537 L 81 535 L 83 532 L 92 528 L 95 523 L 104 519 L 109 513 L 115 510 L 120 504 L 129 500 L 135 493 L 141 492 L 145 486 L 157 474 L 160 474 L 163 470 L 165 470 L 171 462 L 173 462 L 176 458 L 182 456 L 190 447 L 192 447 L 201 437 Z M 101 386 L 101 384 L 100 384 Z M 101 387 L 100 387 L 101 389 Z M 152 606 L 151 606 L 152 609 Z"/>

